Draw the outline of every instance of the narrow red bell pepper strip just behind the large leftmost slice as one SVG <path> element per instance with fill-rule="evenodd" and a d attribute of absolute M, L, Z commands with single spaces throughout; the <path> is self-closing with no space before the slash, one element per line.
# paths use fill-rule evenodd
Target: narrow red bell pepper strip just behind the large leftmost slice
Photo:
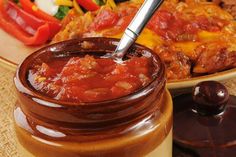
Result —
<path fill-rule="evenodd" d="M 57 18 L 43 12 L 30 0 L 20 0 L 20 4 L 26 12 L 28 12 L 40 19 L 43 19 L 43 20 L 46 20 L 49 22 L 58 23 L 58 24 L 60 23 L 60 21 Z"/>

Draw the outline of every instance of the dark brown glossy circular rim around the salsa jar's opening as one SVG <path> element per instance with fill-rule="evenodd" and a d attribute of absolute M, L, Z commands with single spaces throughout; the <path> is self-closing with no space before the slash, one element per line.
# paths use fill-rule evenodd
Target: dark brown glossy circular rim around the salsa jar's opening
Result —
<path fill-rule="evenodd" d="M 16 75 L 14 77 L 14 83 L 15 83 L 15 87 L 17 88 L 17 90 L 21 93 L 23 93 L 24 95 L 27 95 L 28 97 L 31 97 L 35 100 L 39 100 L 40 104 L 43 104 L 45 106 L 54 106 L 54 107 L 73 107 L 73 106 L 98 106 L 98 105 L 106 105 L 106 104 L 111 104 L 113 102 L 119 103 L 119 102 L 123 102 L 126 101 L 127 99 L 129 100 L 135 100 L 137 99 L 136 95 L 139 95 L 140 97 L 145 96 L 146 94 L 151 93 L 154 88 L 158 85 L 160 85 L 161 83 L 164 82 L 165 84 L 165 66 L 163 64 L 163 62 L 161 61 L 161 59 L 159 58 L 159 56 L 153 52 L 153 50 L 142 46 L 140 44 L 135 43 L 132 48 L 135 48 L 135 50 L 142 50 L 145 52 L 148 52 L 149 54 L 151 54 L 152 58 L 155 60 L 153 61 L 155 63 L 155 68 L 159 68 L 159 69 L 155 69 L 155 75 L 152 79 L 152 81 L 128 94 L 122 97 L 118 97 L 115 99 L 108 99 L 108 100 L 104 100 L 104 101 L 96 101 L 96 102 L 71 102 L 71 101 L 62 101 L 62 100 L 56 100 L 54 98 L 50 98 L 49 96 L 46 96 L 42 93 L 37 92 L 33 87 L 31 87 L 29 85 L 29 83 L 27 82 L 27 71 L 29 70 L 29 67 L 31 66 L 32 62 L 34 62 L 34 60 L 39 56 L 39 55 L 43 55 L 46 52 L 50 53 L 54 53 L 54 52 L 58 52 L 56 50 L 60 50 L 63 51 L 63 48 L 65 48 L 68 45 L 71 44 L 75 44 L 75 43 L 81 43 L 84 41 L 89 41 L 92 43 L 99 43 L 101 44 L 101 42 L 106 43 L 106 44 L 110 44 L 111 46 L 117 46 L 119 40 L 118 39 L 114 39 L 114 38 L 105 38 L 105 37 L 90 37 L 90 38 L 78 38 L 78 39 L 72 39 L 72 40 L 67 40 L 67 41 L 62 41 L 62 42 L 58 42 L 58 43 L 54 43 L 52 45 L 48 45 L 46 47 L 43 47 L 37 51 L 35 51 L 34 53 L 32 53 L 31 55 L 29 55 L 17 68 L 17 72 Z M 84 50 L 83 50 L 84 51 Z M 142 95 L 140 95 L 141 93 L 143 93 Z"/>

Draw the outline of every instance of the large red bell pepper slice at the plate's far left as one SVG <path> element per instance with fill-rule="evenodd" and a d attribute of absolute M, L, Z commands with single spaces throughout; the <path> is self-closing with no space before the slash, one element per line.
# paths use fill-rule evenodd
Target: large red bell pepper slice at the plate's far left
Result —
<path fill-rule="evenodd" d="M 0 27 L 26 45 L 44 44 L 57 29 L 54 23 L 38 19 L 4 0 L 0 0 Z"/>

